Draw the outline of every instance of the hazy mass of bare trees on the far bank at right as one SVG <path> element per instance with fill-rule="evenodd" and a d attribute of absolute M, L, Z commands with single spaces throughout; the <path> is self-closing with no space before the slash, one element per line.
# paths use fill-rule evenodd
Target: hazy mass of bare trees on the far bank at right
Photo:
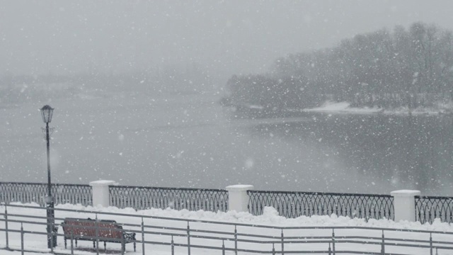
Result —
<path fill-rule="evenodd" d="M 274 108 L 327 99 L 382 108 L 430 106 L 453 99 L 453 33 L 418 22 L 408 30 L 359 34 L 336 47 L 280 57 L 268 74 L 234 77 L 229 89 L 242 103 Z"/>

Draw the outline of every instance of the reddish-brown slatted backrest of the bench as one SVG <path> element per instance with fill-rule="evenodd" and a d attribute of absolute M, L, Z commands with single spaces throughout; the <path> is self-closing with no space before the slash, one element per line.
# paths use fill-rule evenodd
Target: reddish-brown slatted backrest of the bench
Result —
<path fill-rule="evenodd" d="M 98 237 L 122 239 L 122 227 L 115 220 L 86 220 L 66 218 L 63 222 L 63 231 L 65 236 L 74 237 L 94 237 L 96 238 L 96 227 Z"/>

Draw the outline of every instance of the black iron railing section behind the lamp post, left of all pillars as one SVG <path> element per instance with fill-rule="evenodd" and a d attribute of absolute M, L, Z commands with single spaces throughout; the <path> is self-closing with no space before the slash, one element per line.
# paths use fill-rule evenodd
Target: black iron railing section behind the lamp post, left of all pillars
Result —
<path fill-rule="evenodd" d="M 91 186 L 81 184 L 52 184 L 55 204 L 93 205 Z M 0 182 L 0 203 L 38 203 L 45 206 L 47 183 Z"/>

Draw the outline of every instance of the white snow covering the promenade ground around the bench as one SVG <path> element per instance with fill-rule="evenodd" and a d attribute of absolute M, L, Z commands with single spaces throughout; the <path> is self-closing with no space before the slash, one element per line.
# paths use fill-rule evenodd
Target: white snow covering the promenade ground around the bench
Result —
<path fill-rule="evenodd" d="M 195 220 L 190 222 L 191 229 L 205 229 L 205 230 L 214 230 L 221 232 L 231 232 L 234 227 L 232 225 L 227 225 L 230 223 L 236 224 L 246 224 L 241 227 L 238 227 L 239 234 L 261 234 L 261 235 L 272 235 L 274 237 L 280 236 L 280 229 L 278 227 L 338 227 L 336 229 L 336 237 L 341 239 L 341 236 L 355 236 L 360 237 L 381 237 L 382 230 L 380 229 L 414 229 L 414 230 L 425 230 L 425 231 L 440 231 L 440 232 L 450 232 L 453 234 L 453 226 L 442 223 L 439 221 L 434 222 L 432 225 L 425 224 L 421 225 L 420 222 L 394 222 L 391 220 L 369 220 L 366 222 L 362 219 L 350 219 L 348 217 L 337 217 L 336 215 L 331 216 L 313 216 L 313 217 L 298 217 L 296 219 L 287 219 L 277 215 L 277 211 L 274 208 L 265 208 L 265 212 L 260 216 L 253 216 L 248 212 L 205 212 L 205 211 L 188 211 L 188 210 L 161 210 L 161 209 L 151 209 L 151 210 L 140 210 L 135 211 L 132 208 L 118 209 L 118 208 L 93 208 L 93 207 L 83 207 L 81 205 L 58 205 L 59 209 L 69 209 L 74 211 L 63 211 L 57 210 L 55 212 L 55 217 L 57 217 L 56 223 L 62 222 L 64 217 L 79 217 L 87 218 L 96 217 L 95 213 L 98 212 L 98 218 L 103 220 L 116 220 L 120 223 L 138 225 L 141 223 L 141 216 L 152 216 L 154 218 L 144 218 L 144 225 L 153 225 L 161 227 L 173 227 L 185 229 L 187 227 L 186 220 Z M 75 211 L 77 210 L 77 211 Z M 4 212 L 4 207 L 0 207 L 0 211 Z M 107 213 L 121 213 L 125 215 L 103 215 L 103 212 Z M 8 207 L 8 220 L 22 219 L 22 220 L 32 220 L 25 217 L 13 217 L 12 214 L 16 215 L 33 215 L 33 216 L 45 216 L 45 210 L 42 208 L 15 208 Z M 159 217 L 159 218 L 156 218 Z M 179 220 L 175 220 L 179 219 Z M 42 219 L 33 219 L 33 221 L 44 222 Z M 213 221 L 217 222 L 216 224 L 207 224 L 200 221 Z M 219 224 L 219 222 L 224 222 L 226 224 Z M 1 225 L 4 223 L 1 222 Z M 267 227 L 266 227 L 267 226 Z M 19 223 L 9 222 L 9 229 L 20 229 Z M 269 228 L 277 227 L 277 228 Z M 355 229 L 341 229 L 340 227 L 356 227 Z M 372 227 L 377 229 L 363 229 L 360 227 Z M 1 226 L 1 229 L 4 229 L 4 226 Z M 23 224 L 24 231 L 33 231 L 41 232 L 42 234 L 25 234 L 24 244 L 25 249 L 28 251 L 40 251 L 48 252 L 46 246 L 46 236 L 45 236 L 45 226 L 44 225 L 33 225 L 29 223 Z M 125 229 L 134 229 L 140 231 L 137 226 L 127 226 Z M 150 231 L 145 230 L 145 231 Z M 156 231 L 151 230 L 151 231 Z M 162 230 L 161 230 L 162 231 Z M 173 231 L 173 230 L 168 230 Z M 174 230 L 174 232 L 177 232 Z M 59 234 L 62 234 L 62 229 L 59 229 Z M 202 233 L 197 233 L 202 234 Z M 285 237 L 304 237 L 310 239 L 316 236 L 331 237 L 332 229 L 285 229 Z M 403 232 L 403 231 L 391 231 L 385 230 L 386 237 L 391 238 L 404 238 L 404 239 L 418 239 L 420 242 L 427 242 L 428 244 L 430 234 L 426 232 Z M 212 234 L 214 235 L 214 234 Z M 21 238 L 18 233 L 9 234 L 9 246 L 13 249 L 20 249 L 21 247 Z M 451 234 L 432 234 L 434 241 L 445 241 L 451 242 Z M 241 237 L 246 239 L 246 237 Z M 141 239 L 141 234 L 137 234 L 137 239 Z M 154 241 L 154 242 L 168 242 L 170 237 L 161 236 L 161 235 L 152 235 L 147 234 L 145 240 Z M 259 239 L 259 238 L 258 238 Z M 261 238 L 263 239 L 263 238 Z M 4 247 L 6 245 L 5 232 L 1 230 L 0 232 L 0 246 Z M 186 237 L 180 237 L 175 239 L 176 242 L 185 242 Z M 202 244 L 210 246 L 222 246 L 222 243 L 219 240 L 210 240 L 210 239 L 192 239 L 192 244 Z M 379 242 L 375 241 L 375 242 Z M 390 241 L 391 242 L 391 241 Z M 277 242 L 278 244 L 278 242 Z M 415 244 L 417 244 L 415 242 Z M 438 246 L 439 244 L 437 244 Z M 443 246 L 452 246 L 451 244 L 442 244 Z M 103 246 L 100 242 L 100 246 Z M 232 247 L 232 242 L 225 242 L 226 247 Z M 120 244 L 107 244 L 108 254 L 120 254 Z M 352 242 L 336 244 L 337 250 L 349 250 L 349 251 L 372 251 L 380 252 L 379 244 L 354 244 Z M 239 243 L 239 249 L 264 249 L 269 251 L 270 244 L 254 244 L 254 243 Z M 327 243 L 317 243 L 317 244 L 285 244 L 285 251 L 290 251 L 292 249 L 303 249 L 306 251 L 310 250 L 324 250 L 327 251 Z M 103 252 L 103 247 L 100 248 Z M 132 244 L 126 245 L 127 254 L 142 254 L 142 244 L 137 243 L 137 251 L 134 252 L 132 249 Z M 280 244 L 276 246 L 276 250 L 280 250 Z M 153 255 L 164 255 L 171 254 L 171 247 L 168 245 L 155 245 L 155 244 L 146 244 L 145 246 L 146 254 Z M 208 249 L 192 249 L 192 254 L 222 254 L 221 250 L 208 250 Z M 400 246 L 386 246 L 386 252 L 397 253 L 397 254 L 429 254 L 429 249 L 420 249 L 420 248 L 411 248 L 411 247 L 400 247 Z M 68 249 L 64 249 L 64 242 L 62 237 L 58 237 L 58 246 L 55 249 L 55 252 L 58 254 L 70 254 L 69 244 Z M 21 254 L 20 251 L 5 251 L 0 250 L 0 254 L 6 255 L 17 255 Z M 25 253 L 28 254 L 28 253 Z M 74 251 L 74 254 L 96 254 L 96 250 L 92 248 L 91 242 L 80 241 L 79 247 Z M 185 247 L 176 247 L 175 254 L 187 254 L 187 248 Z M 226 254 L 234 254 L 231 251 L 227 251 Z M 241 253 L 241 254 L 251 254 L 251 253 Z M 437 254 L 453 254 L 453 250 L 440 249 L 437 251 Z"/>

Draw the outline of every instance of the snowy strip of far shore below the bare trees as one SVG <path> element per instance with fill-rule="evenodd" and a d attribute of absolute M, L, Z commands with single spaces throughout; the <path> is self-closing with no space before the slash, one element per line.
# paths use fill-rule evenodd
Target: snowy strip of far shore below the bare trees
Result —
<path fill-rule="evenodd" d="M 391 110 L 384 110 L 382 108 L 355 108 L 351 107 L 348 102 L 334 103 L 327 101 L 323 106 L 318 108 L 304 109 L 304 112 L 317 112 L 317 113 L 384 113 L 384 114 L 439 114 L 449 113 L 452 111 L 452 106 L 449 104 L 439 104 L 437 108 L 415 108 L 409 111 L 407 107 L 395 108 Z"/>

